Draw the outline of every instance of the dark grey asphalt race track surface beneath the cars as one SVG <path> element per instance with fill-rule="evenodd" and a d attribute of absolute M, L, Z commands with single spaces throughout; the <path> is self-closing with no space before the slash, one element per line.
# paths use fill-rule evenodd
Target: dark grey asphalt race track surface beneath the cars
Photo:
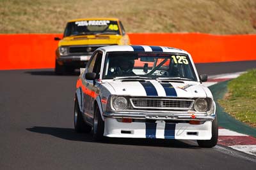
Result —
<path fill-rule="evenodd" d="M 232 66 L 231 66 L 231 65 Z M 247 64 L 247 65 L 246 65 Z M 256 61 L 196 65 L 200 73 L 245 71 Z M 206 69 L 207 68 L 207 69 Z M 227 70 L 228 69 L 228 70 Z M 239 70 L 237 70 L 239 69 Z M 77 74 L 0 71 L 0 169 L 255 169 L 255 157 L 194 141 L 111 139 L 73 129 Z"/>

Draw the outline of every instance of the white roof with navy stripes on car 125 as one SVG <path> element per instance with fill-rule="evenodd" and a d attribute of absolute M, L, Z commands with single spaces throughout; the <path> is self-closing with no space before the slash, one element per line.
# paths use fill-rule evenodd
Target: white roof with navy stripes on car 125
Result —
<path fill-rule="evenodd" d="M 100 47 L 99 49 L 104 50 L 105 52 L 172 52 L 189 54 L 184 50 L 168 46 L 110 45 Z"/>

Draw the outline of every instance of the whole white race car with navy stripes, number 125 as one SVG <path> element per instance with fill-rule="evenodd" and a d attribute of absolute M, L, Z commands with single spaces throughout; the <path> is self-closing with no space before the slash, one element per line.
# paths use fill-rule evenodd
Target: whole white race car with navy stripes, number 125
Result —
<path fill-rule="evenodd" d="M 105 46 L 93 53 L 76 85 L 74 127 L 93 138 L 218 141 L 211 91 L 191 55 L 164 46 Z"/>

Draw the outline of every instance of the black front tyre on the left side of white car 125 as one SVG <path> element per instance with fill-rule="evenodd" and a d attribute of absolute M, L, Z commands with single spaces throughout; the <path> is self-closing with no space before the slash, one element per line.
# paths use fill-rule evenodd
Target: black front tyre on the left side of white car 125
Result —
<path fill-rule="evenodd" d="M 104 134 L 104 121 L 101 118 L 99 107 L 95 107 L 94 117 L 93 117 L 93 140 L 103 141 L 105 138 Z"/>

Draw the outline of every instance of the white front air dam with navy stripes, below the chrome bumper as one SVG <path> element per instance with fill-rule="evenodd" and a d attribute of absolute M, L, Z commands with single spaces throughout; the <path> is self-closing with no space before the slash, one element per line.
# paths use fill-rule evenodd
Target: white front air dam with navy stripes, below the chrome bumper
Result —
<path fill-rule="evenodd" d="M 209 140 L 212 137 L 212 121 L 204 124 L 156 122 L 118 122 L 116 118 L 106 117 L 104 136 L 110 138 L 159 138 L 159 139 L 199 139 Z"/>

